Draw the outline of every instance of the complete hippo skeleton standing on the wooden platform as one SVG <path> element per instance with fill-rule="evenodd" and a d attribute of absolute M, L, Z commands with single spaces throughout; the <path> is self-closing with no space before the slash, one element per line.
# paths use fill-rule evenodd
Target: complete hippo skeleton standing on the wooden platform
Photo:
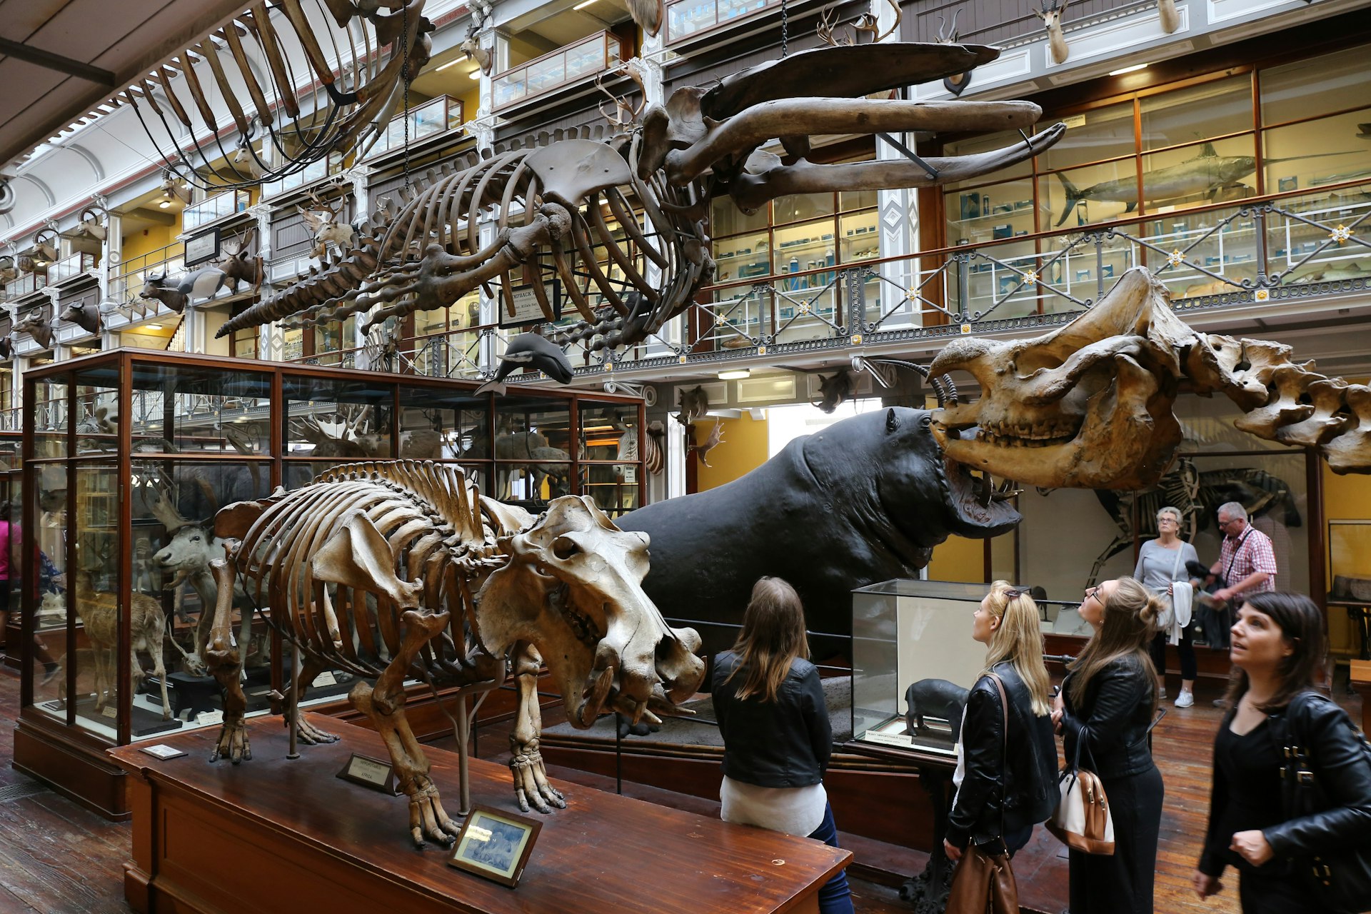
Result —
<path fill-rule="evenodd" d="M 602 710 L 635 721 L 677 713 L 705 674 L 699 636 L 672 629 L 640 586 L 647 536 L 616 528 L 585 497 L 554 500 L 537 518 L 481 497 L 455 466 L 363 462 L 311 485 L 240 502 L 217 517 L 237 541 L 215 559 L 218 602 L 204 658 L 226 692 L 223 729 L 211 761 L 251 758 L 243 726 L 240 644 L 232 640 L 234 571 L 299 651 L 288 719 L 325 669 L 376 678 L 350 695 L 385 737 L 399 787 L 410 799 L 410 835 L 451 844 L 429 763 L 404 718 L 404 678 L 472 688 L 499 685 L 511 670 L 520 710 L 510 736 L 520 807 L 565 806 L 539 755 L 537 671 L 546 658 L 576 726 Z M 373 608 L 374 607 L 374 611 Z M 380 658 L 392 658 L 383 662 Z M 470 724 L 458 724 L 466 758 Z M 332 734 L 296 721 L 306 743 Z M 465 766 L 465 762 L 462 762 Z M 469 808 L 465 767 L 462 808 Z"/>

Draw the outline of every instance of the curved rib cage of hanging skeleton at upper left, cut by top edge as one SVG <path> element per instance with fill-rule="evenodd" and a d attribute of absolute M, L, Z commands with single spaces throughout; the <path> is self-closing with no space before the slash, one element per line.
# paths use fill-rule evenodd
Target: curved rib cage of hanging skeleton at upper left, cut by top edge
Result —
<path fill-rule="evenodd" d="M 123 96 L 169 169 L 202 188 L 211 185 L 196 170 L 214 171 L 210 162 L 218 159 L 225 166 L 213 182 L 215 189 L 276 181 L 330 152 L 361 158 L 389 122 L 406 79 L 428 63 L 433 25 L 420 15 L 424 3 L 274 0 L 276 16 L 266 3 L 254 3 Z M 291 63 L 298 59 L 296 48 L 303 49 L 307 71 Z M 173 78 L 177 73 L 181 79 Z M 302 111 L 300 86 L 310 84 L 318 86 L 318 104 Z M 223 110 L 241 137 L 236 155 L 219 136 Z M 182 141 L 181 127 L 192 137 L 208 136 Z M 256 147 L 267 144 L 273 152 L 263 159 Z"/>

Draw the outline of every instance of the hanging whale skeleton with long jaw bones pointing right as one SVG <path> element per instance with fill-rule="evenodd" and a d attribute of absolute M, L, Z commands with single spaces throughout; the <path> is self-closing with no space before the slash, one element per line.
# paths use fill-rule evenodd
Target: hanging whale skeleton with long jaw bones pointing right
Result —
<path fill-rule="evenodd" d="M 677 89 L 665 107 L 650 106 L 631 133 L 606 143 L 563 138 L 487 153 L 409 201 L 378 241 L 363 240 L 319 275 L 233 318 L 219 336 L 291 315 L 306 323 L 343 321 L 380 306 L 366 323 L 370 329 L 391 317 L 446 307 L 495 281 L 510 314 L 511 289 L 526 285 L 553 321 L 544 288 L 553 274 L 583 318 L 557 338 L 559 344 L 585 343 L 598 351 L 639 343 L 690 307 L 695 292 L 712 281 L 707 219 L 717 196 L 728 195 L 751 212 L 794 193 L 932 186 L 987 174 L 1052 147 L 1063 125 L 1004 149 L 946 159 L 846 164 L 805 159 L 812 134 L 1034 125 L 1042 112 L 1028 101 L 864 97 L 962 73 L 998 55 L 980 45 L 817 48 L 709 89 Z M 831 97 L 816 97 L 816 88 Z M 776 136 L 797 156 L 794 164 L 761 151 Z M 478 237 L 484 214 L 495 215 L 498 227 L 487 245 Z M 622 280 L 600 270 L 598 248 Z M 488 285 L 487 292 L 492 293 Z"/>

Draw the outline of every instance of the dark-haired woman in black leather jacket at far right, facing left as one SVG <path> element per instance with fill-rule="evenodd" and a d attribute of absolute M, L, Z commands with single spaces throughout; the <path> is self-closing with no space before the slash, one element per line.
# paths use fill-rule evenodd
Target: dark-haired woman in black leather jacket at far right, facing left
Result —
<path fill-rule="evenodd" d="M 1371 844 L 1371 762 L 1342 708 L 1313 691 L 1323 648 L 1323 615 L 1307 596 L 1252 593 L 1238 608 L 1233 710 L 1215 737 L 1209 828 L 1194 874 L 1200 898 L 1223 891 L 1219 877 L 1231 865 L 1245 914 L 1333 914 L 1305 882 L 1308 858 Z M 1282 736 L 1308 750 L 1327 811 L 1286 815 Z"/>

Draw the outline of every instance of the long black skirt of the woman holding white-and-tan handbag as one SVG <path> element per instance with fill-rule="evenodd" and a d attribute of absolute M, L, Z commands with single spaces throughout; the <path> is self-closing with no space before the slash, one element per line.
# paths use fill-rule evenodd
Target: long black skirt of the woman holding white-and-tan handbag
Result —
<path fill-rule="evenodd" d="M 1153 914 L 1161 830 L 1161 771 L 1104 780 L 1115 826 L 1112 856 L 1071 851 L 1071 914 Z"/>

